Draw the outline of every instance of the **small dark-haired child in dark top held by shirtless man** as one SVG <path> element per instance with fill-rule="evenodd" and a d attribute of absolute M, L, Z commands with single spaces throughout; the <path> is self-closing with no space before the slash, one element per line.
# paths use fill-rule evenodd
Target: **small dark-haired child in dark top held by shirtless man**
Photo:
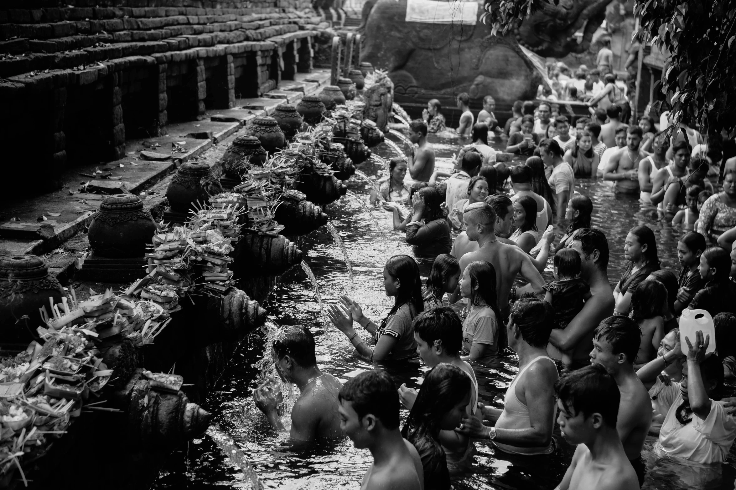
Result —
<path fill-rule="evenodd" d="M 545 284 L 545 301 L 552 305 L 555 328 L 565 328 L 570 320 L 583 309 L 584 300 L 590 298 L 590 286 L 578 277 L 580 256 L 572 248 L 563 248 L 554 256 L 555 280 Z"/>

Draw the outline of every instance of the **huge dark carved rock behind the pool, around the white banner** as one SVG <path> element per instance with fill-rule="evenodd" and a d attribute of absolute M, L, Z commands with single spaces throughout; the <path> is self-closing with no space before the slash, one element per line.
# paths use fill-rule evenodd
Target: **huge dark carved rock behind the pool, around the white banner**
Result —
<path fill-rule="evenodd" d="M 361 23 L 361 62 L 388 71 L 397 95 L 453 96 L 464 91 L 511 104 L 533 98 L 542 81 L 521 46 L 539 57 L 587 50 L 610 1 L 545 4 L 511 35 L 496 37 L 480 21 L 474 26 L 406 22 L 407 0 L 368 0 Z M 481 12 L 478 8 L 478 16 Z M 578 43 L 574 34 L 583 24 Z"/>

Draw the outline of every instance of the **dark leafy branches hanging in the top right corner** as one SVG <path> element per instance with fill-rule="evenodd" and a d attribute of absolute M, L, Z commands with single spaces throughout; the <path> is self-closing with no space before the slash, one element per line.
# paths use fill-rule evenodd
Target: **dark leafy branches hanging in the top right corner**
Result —
<path fill-rule="evenodd" d="M 637 0 L 641 29 L 663 53 L 673 119 L 717 134 L 736 126 L 736 0 Z M 730 105 L 730 107 L 729 107 Z"/>

